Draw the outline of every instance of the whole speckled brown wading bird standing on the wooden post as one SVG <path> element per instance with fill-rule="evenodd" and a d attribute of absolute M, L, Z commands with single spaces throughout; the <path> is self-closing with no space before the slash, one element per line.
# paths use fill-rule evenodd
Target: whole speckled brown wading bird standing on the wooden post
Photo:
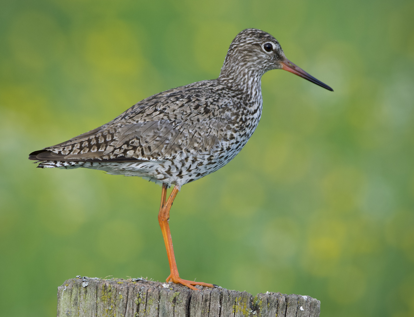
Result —
<path fill-rule="evenodd" d="M 158 221 L 170 266 L 166 282 L 193 290 L 214 287 L 179 276 L 168 224 L 171 205 L 181 186 L 217 171 L 246 145 L 262 114 L 262 75 L 272 69 L 333 91 L 289 61 L 272 35 L 245 29 L 231 42 L 217 79 L 145 98 L 96 129 L 30 153 L 29 160 L 40 168 L 84 167 L 161 185 Z"/>

